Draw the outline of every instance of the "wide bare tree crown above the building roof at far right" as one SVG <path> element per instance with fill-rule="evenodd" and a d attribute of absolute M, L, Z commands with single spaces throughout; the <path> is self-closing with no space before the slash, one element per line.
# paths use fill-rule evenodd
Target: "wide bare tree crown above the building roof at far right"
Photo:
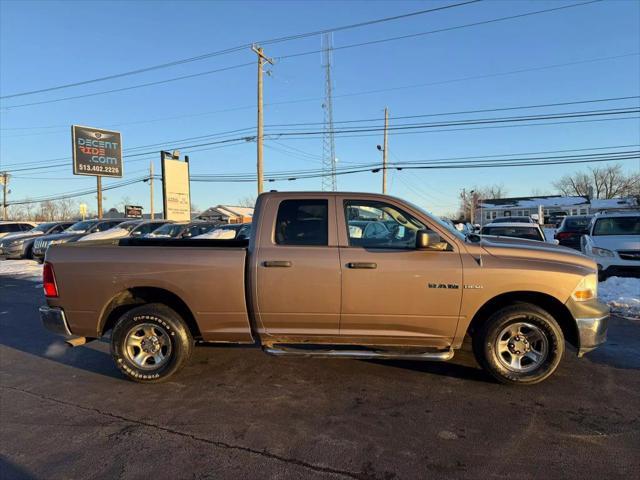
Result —
<path fill-rule="evenodd" d="M 640 196 L 640 173 L 626 175 L 622 165 L 590 168 L 588 172 L 565 175 L 553 186 L 567 196 L 617 198 Z"/>

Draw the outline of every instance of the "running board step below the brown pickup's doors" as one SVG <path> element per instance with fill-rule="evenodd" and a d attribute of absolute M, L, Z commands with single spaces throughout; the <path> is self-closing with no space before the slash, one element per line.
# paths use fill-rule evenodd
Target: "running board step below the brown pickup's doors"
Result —
<path fill-rule="evenodd" d="M 386 360 L 426 360 L 444 362 L 453 358 L 453 349 L 432 352 L 403 352 L 402 350 L 347 350 L 347 349 L 318 349 L 295 348 L 289 346 L 270 346 L 264 348 L 265 353 L 277 357 L 296 356 L 314 358 L 359 358 Z"/>

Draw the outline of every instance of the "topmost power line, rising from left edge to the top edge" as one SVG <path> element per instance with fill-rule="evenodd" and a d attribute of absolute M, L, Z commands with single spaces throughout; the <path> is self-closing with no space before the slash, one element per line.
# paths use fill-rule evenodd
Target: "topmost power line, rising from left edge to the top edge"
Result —
<path fill-rule="evenodd" d="M 406 19 L 406 18 L 410 18 L 410 17 L 415 17 L 418 15 L 424 15 L 427 13 L 433 13 L 433 12 L 437 12 L 437 11 L 441 11 L 441 10 L 447 10 L 447 9 L 451 9 L 451 8 L 455 8 L 455 7 L 461 7 L 464 5 L 469 5 L 472 3 L 478 3 L 481 0 L 470 0 L 470 1 L 466 1 L 466 2 L 461 2 L 461 3 L 454 3 L 454 4 L 450 4 L 450 5 L 445 5 L 442 7 L 436 7 L 436 8 L 429 8 L 429 9 L 424 9 L 424 10 L 418 10 L 415 12 L 409 12 L 409 13 L 405 13 L 402 15 L 395 15 L 392 17 L 384 17 L 384 18 L 379 18 L 379 19 L 375 19 L 375 20 L 369 20 L 369 21 L 365 21 L 365 22 L 359 22 L 359 23 L 353 23 L 350 25 L 343 25 L 340 27 L 333 27 L 333 28 L 328 28 L 328 29 L 323 29 L 323 30 L 316 30 L 316 31 L 312 31 L 312 32 L 305 32 L 305 33 L 298 33 L 298 34 L 294 34 L 294 35 L 287 35 L 284 37 L 277 37 L 277 38 L 272 38 L 272 39 L 267 39 L 267 40 L 260 40 L 258 42 L 250 42 L 250 43 L 245 43 L 242 45 L 238 45 L 235 47 L 230 47 L 230 48 L 226 48 L 224 50 L 217 50 L 217 51 L 213 51 L 213 52 L 207 52 L 201 55 L 197 55 L 194 57 L 187 57 L 187 58 L 181 58 L 178 60 L 173 60 L 171 62 L 166 62 L 166 63 L 161 63 L 161 64 L 157 64 L 157 65 L 151 65 L 148 67 L 144 67 L 144 68 L 138 68 L 135 70 L 129 70 L 126 72 L 121 72 L 121 73 L 114 73 L 111 75 L 106 75 L 103 77 L 97 77 L 97 78 L 93 78 L 93 79 L 89 79 L 89 80 L 83 80 L 80 82 L 73 82 L 73 83 L 67 83 L 67 84 L 62 84 L 62 85 L 56 85 L 53 87 L 46 87 L 46 88 L 41 88 L 38 90 L 30 90 L 30 91 L 26 91 L 26 92 L 18 92 L 18 93 L 13 93 L 10 95 L 4 95 L 2 97 L 0 97 L 0 99 L 7 99 L 7 98 L 15 98 L 15 97 L 22 97 L 22 96 L 26 96 L 26 95 L 33 95 L 36 93 L 45 93 L 45 92 L 51 92 L 54 90 L 62 90 L 65 88 L 71 88 L 71 87 L 78 87 L 78 86 L 82 86 L 82 85 L 88 85 L 91 83 L 98 83 L 98 82 L 103 82 L 106 80 L 114 80 L 116 78 L 122 78 L 122 77 L 127 77 L 130 75 L 137 75 L 140 73 L 146 73 L 146 72 L 150 72 L 150 71 L 154 71 L 154 70 L 160 70 L 163 68 L 168 68 L 168 67 L 174 67 L 177 65 L 183 65 L 185 63 L 191 63 L 191 62 L 197 62 L 200 60 L 205 60 L 208 58 L 212 58 L 212 57 L 217 57 L 220 55 L 227 55 L 229 53 L 235 53 L 235 52 L 239 52 L 242 50 L 245 50 L 247 48 L 250 48 L 251 45 L 253 44 L 261 44 L 261 45 L 267 45 L 267 44 L 274 44 L 274 43 L 280 43 L 280 42 L 286 42 L 286 41 L 291 41 L 291 40 L 299 40 L 302 38 L 307 38 L 307 37 L 311 37 L 311 36 L 315 36 L 315 35 L 320 35 L 320 34 L 324 34 L 324 33 L 331 33 L 331 32 L 339 32 L 339 31 L 343 31 L 343 30 L 351 30 L 354 28 L 361 28 L 361 27 L 366 27 L 366 26 L 370 26 L 370 25 L 376 25 L 376 24 L 380 24 L 380 23 L 385 23 L 385 22 L 391 22 L 391 21 L 395 21 L 395 20 L 402 20 L 402 19 Z"/>

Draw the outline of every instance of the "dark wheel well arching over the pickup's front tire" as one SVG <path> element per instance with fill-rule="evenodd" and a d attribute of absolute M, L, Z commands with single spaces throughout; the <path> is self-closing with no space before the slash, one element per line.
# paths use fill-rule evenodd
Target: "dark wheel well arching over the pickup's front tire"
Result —
<path fill-rule="evenodd" d="M 467 333 L 473 336 L 474 331 L 487 321 L 492 313 L 515 303 L 531 303 L 549 314 L 558 322 L 564 338 L 578 348 L 578 329 L 569 309 L 558 299 L 540 292 L 509 292 L 493 297 L 476 312 L 469 324 Z"/>

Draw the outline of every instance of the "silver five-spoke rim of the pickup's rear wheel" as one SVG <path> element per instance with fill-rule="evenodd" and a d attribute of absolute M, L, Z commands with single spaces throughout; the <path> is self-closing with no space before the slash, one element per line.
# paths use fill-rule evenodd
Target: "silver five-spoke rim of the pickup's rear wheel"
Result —
<path fill-rule="evenodd" d="M 169 360 L 169 333 L 154 323 L 141 323 L 127 333 L 124 351 L 131 363 L 142 370 L 155 370 Z"/>

